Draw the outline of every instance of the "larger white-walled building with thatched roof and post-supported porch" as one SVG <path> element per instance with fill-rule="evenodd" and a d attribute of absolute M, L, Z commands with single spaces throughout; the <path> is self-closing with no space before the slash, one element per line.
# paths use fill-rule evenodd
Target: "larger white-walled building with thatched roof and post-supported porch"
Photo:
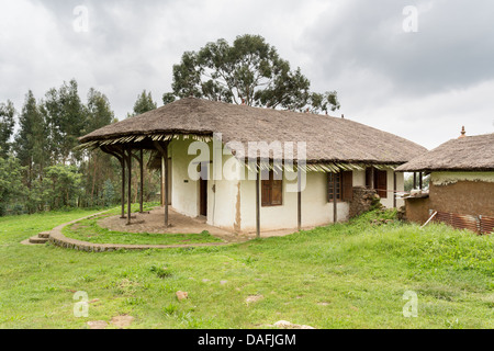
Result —
<path fill-rule="evenodd" d="M 386 207 L 401 206 L 404 180 L 394 169 L 427 151 L 343 117 L 194 98 L 102 127 L 80 144 L 119 158 L 127 170 L 122 184 L 132 159 L 142 168 L 150 152 L 148 166 L 167 183 L 166 225 L 171 205 L 213 226 L 258 234 L 347 220 L 369 192 Z M 122 200 L 122 216 L 123 208 Z"/>

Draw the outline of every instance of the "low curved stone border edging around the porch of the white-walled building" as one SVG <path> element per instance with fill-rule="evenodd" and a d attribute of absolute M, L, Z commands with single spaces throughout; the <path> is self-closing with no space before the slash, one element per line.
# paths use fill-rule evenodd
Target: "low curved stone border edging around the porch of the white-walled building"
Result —
<path fill-rule="evenodd" d="M 193 247 L 211 247 L 211 246 L 225 246 L 228 242 L 206 242 L 206 244 L 184 244 L 184 245 L 120 245 L 120 244 L 96 244 L 89 241 L 81 241 L 76 239 L 67 238 L 64 234 L 61 234 L 61 229 L 66 226 L 75 224 L 79 220 L 83 220 L 87 218 L 91 218 L 108 211 L 103 211 L 100 213 L 96 213 L 82 218 L 78 218 L 65 224 L 61 224 L 52 230 L 49 230 L 49 242 L 65 248 L 65 249 L 74 249 L 79 251 L 87 252 L 110 252 L 116 250 L 147 250 L 147 249 L 177 249 L 177 248 L 193 248 Z"/>

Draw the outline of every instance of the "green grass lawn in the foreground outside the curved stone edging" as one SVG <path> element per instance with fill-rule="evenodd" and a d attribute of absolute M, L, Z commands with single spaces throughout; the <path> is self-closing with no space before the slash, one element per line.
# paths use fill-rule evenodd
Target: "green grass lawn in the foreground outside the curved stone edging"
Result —
<path fill-rule="evenodd" d="M 119 315 L 135 318 L 131 328 L 267 328 L 282 319 L 315 328 L 494 328 L 492 237 L 373 225 L 393 214 L 370 213 L 226 247 L 89 253 L 20 244 L 90 214 L 0 218 L 0 328 L 87 328 Z M 80 291 L 91 303 L 77 318 Z M 189 298 L 178 302 L 177 291 Z M 405 292 L 417 296 L 415 318 L 403 315 Z"/>

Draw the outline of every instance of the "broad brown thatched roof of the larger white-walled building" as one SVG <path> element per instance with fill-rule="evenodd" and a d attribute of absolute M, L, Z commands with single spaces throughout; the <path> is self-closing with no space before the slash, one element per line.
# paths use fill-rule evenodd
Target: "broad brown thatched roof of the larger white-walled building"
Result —
<path fill-rule="evenodd" d="M 427 151 L 407 139 L 345 118 L 194 98 L 104 126 L 81 137 L 80 143 L 99 147 L 177 135 L 211 138 L 217 133 L 224 144 L 240 141 L 246 149 L 249 141 L 305 141 L 307 163 L 402 165 Z M 258 155 L 235 156 L 245 159 Z"/>

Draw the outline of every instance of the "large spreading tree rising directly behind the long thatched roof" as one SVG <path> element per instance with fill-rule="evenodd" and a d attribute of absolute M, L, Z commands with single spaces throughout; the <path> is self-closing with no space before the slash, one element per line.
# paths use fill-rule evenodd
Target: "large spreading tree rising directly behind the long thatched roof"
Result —
<path fill-rule="evenodd" d="M 229 103 L 321 112 L 339 109 L 336 91 L 314 93 L 300 68 L 292 70 L 277 49 L 259 35 L 207 43 L 199 52 L 186 52 L 173 66 L 171 97 L 197 97 Z"/>

